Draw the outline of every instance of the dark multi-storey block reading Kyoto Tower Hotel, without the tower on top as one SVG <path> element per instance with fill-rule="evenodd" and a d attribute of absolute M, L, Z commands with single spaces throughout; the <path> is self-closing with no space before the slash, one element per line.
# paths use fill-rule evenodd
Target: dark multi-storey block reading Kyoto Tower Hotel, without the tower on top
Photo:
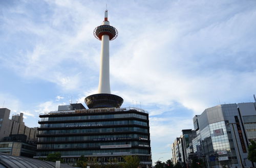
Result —
<path fill-rule="evenodd" d="M 62 108 L 39 117 L 37 157 L 60 152 L 66 162 L 84 155 L 106 164 L 136 155 L 141 164 L 152 163 L 148 113 L 142 109 Z"/>

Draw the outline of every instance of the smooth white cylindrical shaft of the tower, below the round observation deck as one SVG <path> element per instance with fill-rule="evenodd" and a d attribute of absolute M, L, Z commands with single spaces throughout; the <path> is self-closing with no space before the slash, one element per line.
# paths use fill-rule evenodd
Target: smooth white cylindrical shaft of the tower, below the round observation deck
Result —
<path fill-rule="evenodd" d="M 110 37 L 103 35 L 101 38 L 100 71 L 98 93 L 110 92 Z"/>

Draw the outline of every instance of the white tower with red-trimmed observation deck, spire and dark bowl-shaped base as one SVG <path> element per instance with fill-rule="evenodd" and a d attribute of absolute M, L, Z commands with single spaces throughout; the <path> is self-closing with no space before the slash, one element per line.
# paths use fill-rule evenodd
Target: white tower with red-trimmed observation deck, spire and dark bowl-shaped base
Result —
<path fill-rule="evenodd" d="M 84 99 L 89 108 L 120 107 L 123 99 L 110 91 L 110 40 L 114 40 L 118 32 L 110 25 L 108 10 L 105 10 L 104 21 L 93 32 L 94 36 L 101 41 L 100 73 L 98 94 L 90 95 Z"/>

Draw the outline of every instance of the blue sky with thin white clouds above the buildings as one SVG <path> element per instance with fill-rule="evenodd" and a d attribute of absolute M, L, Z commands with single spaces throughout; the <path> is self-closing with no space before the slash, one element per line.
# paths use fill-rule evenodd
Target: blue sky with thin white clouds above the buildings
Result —
<path fill-rule="evenodd" d="M 103 21 L 111 92 L 150 115 L 153 162 L 193 117 L 256 94 L 256 1 L 0 1 L 0 107 L 29 127 L 58 105 L 96 94 Z M 11 116 L 10 116 L 11 117 Z"/>

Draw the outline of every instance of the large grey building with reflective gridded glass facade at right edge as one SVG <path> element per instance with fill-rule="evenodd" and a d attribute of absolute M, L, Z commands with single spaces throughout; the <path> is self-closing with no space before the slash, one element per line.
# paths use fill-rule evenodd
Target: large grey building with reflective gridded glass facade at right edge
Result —
<path fill-rule="evenodd" d="M 195 120 L 196 119 L 196 120 Z M 194 151 L 207 167 L 252 166 L 247 159 L 249 139 L 255 138 L 255 103 L 221 104 L 194 117 Z"/>

